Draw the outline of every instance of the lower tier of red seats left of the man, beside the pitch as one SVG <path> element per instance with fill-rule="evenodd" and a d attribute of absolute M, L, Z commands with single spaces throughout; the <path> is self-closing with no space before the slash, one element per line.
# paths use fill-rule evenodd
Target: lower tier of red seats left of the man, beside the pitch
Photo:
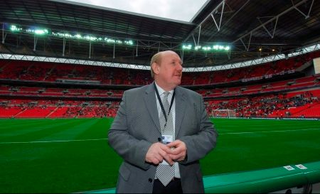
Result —
<path fill-rule="evenodd" d="M 1 118 L 115 117 L 119 102 L 0 99 Z"/>

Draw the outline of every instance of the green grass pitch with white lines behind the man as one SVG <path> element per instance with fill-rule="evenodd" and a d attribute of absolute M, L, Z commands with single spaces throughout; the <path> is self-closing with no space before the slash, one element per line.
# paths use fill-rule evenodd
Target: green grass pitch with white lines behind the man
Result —
<path fill-rule="evenodd" d="M 0 119 L 0 193 L 113 188 L 122 161 L 112 119 Z M 320 121 L 213 119 L 218 144 L 204 176 L 320 161 Z"/>

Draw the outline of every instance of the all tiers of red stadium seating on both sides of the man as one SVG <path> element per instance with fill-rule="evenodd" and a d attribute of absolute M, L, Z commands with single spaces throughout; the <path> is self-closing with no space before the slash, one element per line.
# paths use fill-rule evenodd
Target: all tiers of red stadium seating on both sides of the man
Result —
<path fill-rule="evenodd" d="M 236 117 L 320 117 L 320 75 L 296 72 L 319 55 L 318 51 L 245 68 L 184 72 L 181 85 L 203 95 L 211 117 L 215 109 L 233 109 Z M 0 79 L 6 81 L 0 85 L 0 117 L 15 118 L 114 117 L 126 90 L 117 86 L 152 80 L 144 70 L 19 60 L 0 60 L 0 70 Z M 290 76 L 282 77 L 286 74 Z M 280 78 L 272 79 L 277 75 Z M 27 81 L 33 85 L 26 86 Z M 110 87 L 100 88 L 103 85 Z"/>

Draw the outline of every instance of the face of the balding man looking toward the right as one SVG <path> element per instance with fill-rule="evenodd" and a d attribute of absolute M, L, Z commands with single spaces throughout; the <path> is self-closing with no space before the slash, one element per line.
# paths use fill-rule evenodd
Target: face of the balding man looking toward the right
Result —
<path fill-rule="evenodd" d="M 159 82 L 165 87 L 174 89 L 181 83 L 182 61 L 181 58 L 173 51 L 166 51 L 161 56 L 159 68 Z"/>

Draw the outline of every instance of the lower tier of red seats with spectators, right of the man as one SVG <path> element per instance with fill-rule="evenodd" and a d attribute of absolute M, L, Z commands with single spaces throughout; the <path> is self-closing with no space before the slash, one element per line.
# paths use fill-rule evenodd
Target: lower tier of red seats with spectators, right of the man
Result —
<path fill-rule="evenodd" d="M 316 95 L 314 95 L 314 93 Z M 260 95 L 236 99 L 207 101 L 207 112 L 233 109 L 236 117 L 319 117 L 319 89 L 301 92 L 288 92 L 281 95 Z M 314 111 L 313 111 L 314 110 Z M 221 115 L 219 115 L 222 117 Z"/>

